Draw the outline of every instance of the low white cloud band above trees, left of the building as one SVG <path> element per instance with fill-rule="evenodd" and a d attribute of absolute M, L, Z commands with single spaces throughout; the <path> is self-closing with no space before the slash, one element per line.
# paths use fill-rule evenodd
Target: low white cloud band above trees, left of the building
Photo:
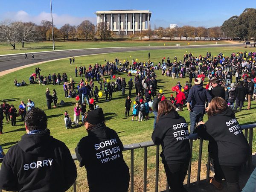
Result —
<path fill-rule="evenodd" d="M 83 20 L 90 20 L 92 23 L 96 24 L 95 17 L 75 17 L 68 14 L 58 15 L 53 13 L 53 24 L 57 27 L 61 27 L 66 23 L 70 25 L 79 25 Z M 23 21 L 23 22 L 33 22 L 40 24 L 41 20 L 51 21 L 51 13 L 41 12 L 39 15 L 29 15 L 27 12 L 20 10 L 18 12 L 6 12 L 0 15 L 0 20 L 12 20 L 12 21 Z"/>

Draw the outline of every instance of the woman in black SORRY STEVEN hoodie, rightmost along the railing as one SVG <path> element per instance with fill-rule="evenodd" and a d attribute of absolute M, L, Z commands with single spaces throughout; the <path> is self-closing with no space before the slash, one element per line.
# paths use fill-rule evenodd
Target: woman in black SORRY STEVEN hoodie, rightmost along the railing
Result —
<path fill-rule="evenodd" d="M 250 156 L 250 147 L 233 111 L 221 97 L 215 97 L 207 111 L 208 121 L 199 122 L 199 137 L 209 140 L 208 151 L 215 170 L 212 183 L 222 189 L 224 178 L 229 192 L 240 192 L 239 169 Z"/>

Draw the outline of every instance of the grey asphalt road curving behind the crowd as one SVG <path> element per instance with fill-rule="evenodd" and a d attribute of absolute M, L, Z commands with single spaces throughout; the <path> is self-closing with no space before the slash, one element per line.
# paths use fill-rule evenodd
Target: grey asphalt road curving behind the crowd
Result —
<path fill-rule="evenodd" d="M 243 44 L 217 44 L 217 45 L 190 45 L 180 46 L 179 49 L 191 49 L 191 48 L 207 48 L 207 47 L 235 47 L 243 46 Z M 74 49 L 63 51 L 51 51 L 51 52 L 34 52 L 27 54 L 29 59 L 25 59 L 25 54 L 16 55 L 3 55 L 0 56 L 0 72 L 10 70 L 16 67 L 21 67 L 28 64 L 34 64 L 42 61 L 49 61 L 53 59 L 61 59 L 68 57 L 76 57 L 81 55 L 92 55 L 112 52 L 128 52 L 128 51 L 143 51 L 153 49 L 177 49 L 177 47 L 116 47 L 116 48 L 94 48 L 94 49 Z M 32 54 L 35 55 L 35 60 L 32 60 Z M 67 61 L 68 62 L 68 61 Z"/>

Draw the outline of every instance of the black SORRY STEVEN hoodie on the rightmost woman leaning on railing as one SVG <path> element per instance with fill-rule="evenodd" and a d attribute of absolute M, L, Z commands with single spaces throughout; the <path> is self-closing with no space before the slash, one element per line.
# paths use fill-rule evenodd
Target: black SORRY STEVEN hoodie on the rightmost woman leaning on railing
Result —
<path fill-rule="evenodd" d="M 239 166 L 250 156 L 250 147 L 231 109 L 210 116 L 197 128 L 199 137 L 209 140 L 210 157 L 223 166 Z"/>

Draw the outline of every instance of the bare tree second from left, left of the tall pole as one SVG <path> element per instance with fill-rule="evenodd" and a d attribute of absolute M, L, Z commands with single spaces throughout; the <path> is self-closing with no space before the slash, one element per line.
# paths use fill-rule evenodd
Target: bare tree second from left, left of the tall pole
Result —
<path fill-rule="evenodd" d="M 19 22 L 19 25 L 20 29 L 18 40 L 21 42 L 22 48 L 24 48 L 24 43 L 27 41 L 34 41 L 38 32 L 36 31 L 35 23 Z"/>

